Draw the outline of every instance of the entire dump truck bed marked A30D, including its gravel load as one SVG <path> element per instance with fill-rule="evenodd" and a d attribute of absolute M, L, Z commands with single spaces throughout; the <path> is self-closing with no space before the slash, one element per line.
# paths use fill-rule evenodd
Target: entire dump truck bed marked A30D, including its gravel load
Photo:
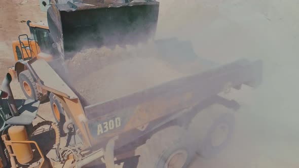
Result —
<path fill-rule="evenodd" d="M 29 64 L 48 91 L 69 99 L 79 97 L 88 119 L 90 134 L 95 139 L 109 138 L 156 119 L 176 115 L 183 109 L 214 97 L 227 87 L 239 89 L 243 84 L 254 87 L 262 78 L 263 63 L 260 60 L 242 59 L 216 65 L 195 54 L 163 51 L 165 53 L 162 52 L 162 55 L 146 56 L 139 53 L 135 57 L 121 59 L 83 57 L 83 61 L 73 67 L 69 65 L 75 65 L 73 63 L 77 60 L 69 58 L 72 64 L 66 62 L 67 74 L 72 82 L 58 75 L 44 60 L 33 60 Z M 124 53 L 121 55 L 124 56 Z M 36 65 L 41 63 L 43 66 Z M 85 64 L 89 66 L 82 66 Z M 49 76 L 53 76 L 51 80 Z M 120 127 L 109 131 L 110 134 L 99 136 L 98 125 L 117 118 L 121 118 Z M 163 123 L 170 119 L 167 117 Z M 95 139 L 93 142 L 97 143 Z"/>

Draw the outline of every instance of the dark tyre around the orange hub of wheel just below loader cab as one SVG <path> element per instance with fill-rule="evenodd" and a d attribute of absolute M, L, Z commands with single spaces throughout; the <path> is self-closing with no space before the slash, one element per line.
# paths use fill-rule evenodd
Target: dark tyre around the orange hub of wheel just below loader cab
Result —
<path fill-rule="evenodd" d="M 32 96 L 28 96 L 23 88 L 23 81 L 26 81 L 31 88 L 31 91 L 34 91 L 32 93 Z M 36 87 L 36 83 L 33 80 L 33 77 L 31 76 L 29 70 L 24 70 L 19 74 L 19 82 L 20 86 L 22 88 L 22 91 L 27 99 L 33 99 L 33 100 L 39 100 L 41 102 L 45 101 L 47 99 L 47 95 L 43 95 L 38 91 L 38 87 Z"/>

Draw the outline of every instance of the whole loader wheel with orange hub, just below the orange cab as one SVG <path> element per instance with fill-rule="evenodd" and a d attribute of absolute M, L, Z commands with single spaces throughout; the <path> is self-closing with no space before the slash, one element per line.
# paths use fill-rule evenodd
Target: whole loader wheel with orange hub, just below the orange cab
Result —
<path fill-rule="evenodd" d="M 19 82 L 27 99 L 39 100 L 41 102 L 47 99 L 47 95 L 43 95 L 38 91 L 29 70 L 24 70 L 19 74 Z"/>

